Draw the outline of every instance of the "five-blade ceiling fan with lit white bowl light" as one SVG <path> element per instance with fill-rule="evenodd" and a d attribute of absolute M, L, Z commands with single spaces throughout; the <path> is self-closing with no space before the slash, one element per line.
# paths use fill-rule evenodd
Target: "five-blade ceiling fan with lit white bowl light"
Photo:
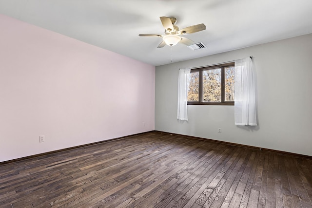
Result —
<path fill-rule="evenodd" d="M 160 17 L 160 21 L 162 23 L 162 26 L 165 28 L 165 34 L 139 34 L 139 36 L 161 37 L 162 41 L 157 46 L 157 48 L 162 48 L 166 44 L 169 46 L 174 46 L 178 42 L 183 43 L 187 46 L 192 45 L 195 43 L 193 40 L 182 36 L 206 30 L 206 25 L 204 24 L 196 24 L 180 30 L 179 27 L 176 26 L 176 18 Z"/>

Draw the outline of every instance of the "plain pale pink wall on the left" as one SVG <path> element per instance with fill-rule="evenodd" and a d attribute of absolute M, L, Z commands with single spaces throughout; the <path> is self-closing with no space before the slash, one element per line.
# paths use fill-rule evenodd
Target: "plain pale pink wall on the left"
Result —
<path fill-rule="evenodd" d="M 3 15 L 0 31 L 0 162 L 154 130 L 154 66 Z"/>

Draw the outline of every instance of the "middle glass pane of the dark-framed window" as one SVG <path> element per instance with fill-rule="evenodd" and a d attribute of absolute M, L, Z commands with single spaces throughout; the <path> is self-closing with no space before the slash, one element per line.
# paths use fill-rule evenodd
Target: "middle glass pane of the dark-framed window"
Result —
<path fill-rule="evenodd" d="M 203 71 L 203 102 L 221 102 L 221 68 Z"/>

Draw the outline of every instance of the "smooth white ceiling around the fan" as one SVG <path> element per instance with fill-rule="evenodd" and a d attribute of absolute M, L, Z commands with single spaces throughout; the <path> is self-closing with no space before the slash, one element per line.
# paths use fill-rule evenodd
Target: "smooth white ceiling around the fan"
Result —
<path fill-rule="evenodd" d="M 312 33 L 312 0 L 0 0 L 0 13 L 159 66 Z M 183 44 L 157 49 L 159 17 L 179 28 L 204 23 Z"/>

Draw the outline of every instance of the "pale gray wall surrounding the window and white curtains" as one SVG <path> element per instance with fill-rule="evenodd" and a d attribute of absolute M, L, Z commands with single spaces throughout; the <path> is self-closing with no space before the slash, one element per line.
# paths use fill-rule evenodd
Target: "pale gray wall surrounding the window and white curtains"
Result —
<path fill-rule="evenodd" d="M 209 50 L 209 43 L 208 49 Z M 196 53 L 196 51 L 190 53 Z M 253 56 L 256 127 L 234 125 L 234 106 L 188 106 L 178 121 L 179 68 Z M 156 67 L 155 129 L 312 155 L 312 34 Z M 222 132 L 218 133 L 218 128 Z"/>

